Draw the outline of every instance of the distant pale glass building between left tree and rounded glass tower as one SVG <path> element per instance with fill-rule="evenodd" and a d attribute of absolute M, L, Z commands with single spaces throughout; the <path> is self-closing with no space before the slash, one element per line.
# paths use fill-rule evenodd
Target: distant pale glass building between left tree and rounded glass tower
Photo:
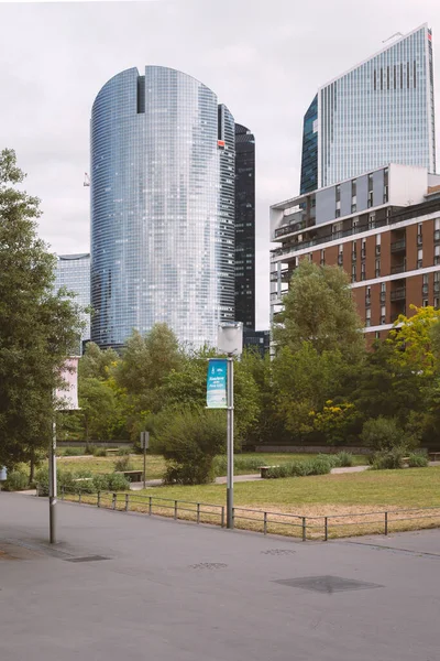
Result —
<path fill-rule="evenodd" d="M 90 305 L 90 254 L 58 254 L 55 274 L 55 291 L 65 286 L 75 292 L 75 303 L 81 307 Z M 81 343 L 90 339 L 90 314 L 85 313 L 86 323 L 81 333 Z"/>

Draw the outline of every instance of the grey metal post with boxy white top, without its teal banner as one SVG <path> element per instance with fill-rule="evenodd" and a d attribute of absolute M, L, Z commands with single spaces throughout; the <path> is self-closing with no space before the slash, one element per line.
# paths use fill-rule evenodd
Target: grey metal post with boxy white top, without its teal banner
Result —
<path fill-rule="evenodd" d="M 227 528 L 233 528 L 233 357 L 243 351 L 243 324 L 229 322 L 219 324 L 218 349 L 228 355 L 227 409 L 228 409 L 228 475 L 227 475 Z"/>

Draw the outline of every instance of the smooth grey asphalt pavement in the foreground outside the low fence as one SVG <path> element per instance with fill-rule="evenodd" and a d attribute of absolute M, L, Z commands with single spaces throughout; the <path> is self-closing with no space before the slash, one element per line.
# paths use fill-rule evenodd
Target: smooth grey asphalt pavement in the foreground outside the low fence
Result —
<path fill-rule="evenodd" d="M 51 549 L 46 499 L 0 494 L 1 661 L 439 659 L 438 530 L 301 543 L 57 509 Z"/>

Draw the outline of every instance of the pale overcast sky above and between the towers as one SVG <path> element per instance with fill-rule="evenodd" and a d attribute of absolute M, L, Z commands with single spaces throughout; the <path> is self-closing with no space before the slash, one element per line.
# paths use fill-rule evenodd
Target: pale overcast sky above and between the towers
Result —
<path fill-rule="evenodd" d="M 200 79 L 255 134 L 257 327 L 268 327 L 268 206 L 299 192 L 307 107 L 318 86 L 425 22 L 439 117 L 439 0 L 0 3 L 0 149 L 15 149 L 26 189 L 41 197 L 52 249 L 89 251 L 82 180 L 99 89 L 146 64 Z"/>

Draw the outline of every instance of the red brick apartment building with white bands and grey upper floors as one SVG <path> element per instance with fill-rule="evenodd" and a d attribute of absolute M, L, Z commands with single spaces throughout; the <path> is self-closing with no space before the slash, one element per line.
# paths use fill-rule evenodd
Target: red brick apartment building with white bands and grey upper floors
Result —
<path fill-rule="evenodd" d="M 275 204 L 271 240 L 272 318 L 305 258 L 349 273 L 370 339 L 410 304 L 440 307 L 440 175 L 425 167 L 389 164 Z"/>

